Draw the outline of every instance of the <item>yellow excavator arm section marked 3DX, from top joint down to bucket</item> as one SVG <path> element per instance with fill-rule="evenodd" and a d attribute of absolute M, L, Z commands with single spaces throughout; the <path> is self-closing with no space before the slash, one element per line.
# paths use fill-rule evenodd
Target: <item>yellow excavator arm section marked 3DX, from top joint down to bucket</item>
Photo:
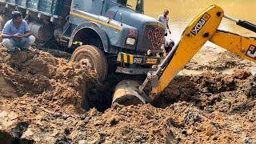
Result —
<path fill-rule="evenodd" d="M 158 83 L 152 86 L 150 99 L 154 99 L 166 86 L 174 79 L 186 63 L 194 57 L 194 54 L 210 40 L 216 33 L 220 25 L 224 11 L 219 6 L 210 6 L 198 15 L 189 26 L 186 27 L 178 45 L 174 51 L 166 57 L 166 62 L 162 63 L 156 74 Z M 153 81 L 154 82 L 154 81 Z"/>

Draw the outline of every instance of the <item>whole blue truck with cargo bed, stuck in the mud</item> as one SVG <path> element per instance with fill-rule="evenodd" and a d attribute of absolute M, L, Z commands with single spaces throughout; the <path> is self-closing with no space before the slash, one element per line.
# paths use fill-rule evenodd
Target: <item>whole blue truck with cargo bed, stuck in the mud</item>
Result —
<path fill-rule="evenodd" d="M 38 44 L 73 50 L 103 81 L 110 70 L 146 74 L 160 63 L 164 27 L 144 14 L 143 0 L 0 0 L 0 23 L 21 11 Z"/>

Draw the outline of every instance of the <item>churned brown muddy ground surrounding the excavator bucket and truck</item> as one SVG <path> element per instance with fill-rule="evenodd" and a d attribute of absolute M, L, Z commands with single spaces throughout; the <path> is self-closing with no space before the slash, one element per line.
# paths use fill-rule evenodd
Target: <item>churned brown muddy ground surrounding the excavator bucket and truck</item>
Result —
<path fill-rule="evenodd" d="M 0 47 L 0 142 L 256 143 L 255 66 L 201 50 L 153 106 L 106 109 L 118 78 L 99 84 L 79 63 Z M 105 100 L 85 105 L 98 92 Z"/>

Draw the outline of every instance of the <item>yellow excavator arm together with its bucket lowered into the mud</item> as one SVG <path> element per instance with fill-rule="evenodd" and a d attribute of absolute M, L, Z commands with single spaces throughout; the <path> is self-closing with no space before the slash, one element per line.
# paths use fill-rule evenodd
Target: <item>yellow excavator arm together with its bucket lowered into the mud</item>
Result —
<path fill-rule="evenodd" d="M 157 71 L 149 72 L 141 86 L 138 86 L 136 82 L 120 82 L 114 93 L 113 102 L 124 105 L 130 105 L 134 102 L 136 104 L 152 102 L 166 89 L 166 86 L 207 41 L 213 42 L 242 58 L 256 62 L 256 39 L 218 30 L 222 18 L 228 18 L 236 22 L 238 26 L 256 32 L 254 24 L 225 16 L 221 7 L 210 6 L 190 22 L 182 33 L 182 38 L 178 44 L 158 66 Z M 151 91 L 150 94 L 146 95 L 143 90 L 148 83 L 150 83 Z M 130 99 L 129 103 L 127 103 L 127 99 Z"/>

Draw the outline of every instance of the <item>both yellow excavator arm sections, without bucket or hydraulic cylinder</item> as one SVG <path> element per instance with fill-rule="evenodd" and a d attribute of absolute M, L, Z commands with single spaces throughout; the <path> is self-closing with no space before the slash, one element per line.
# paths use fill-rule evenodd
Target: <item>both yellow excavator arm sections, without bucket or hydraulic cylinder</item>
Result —
<path fill-rule="evenodd" d="M 242 58 L 256 62 L 256 39 L 218 30 L 223 17 L 222 8 L 210 6 L 191 22 L 182 34 L 181 41 L 178 43 L 170 61 L 167 60 L 166 66 L 162 66 L 163 69 L 160 68 L 158 84 L 152 87 L 150 92 L 151 99 L 162 93 L 178 72 L 208 40 Z"/>

